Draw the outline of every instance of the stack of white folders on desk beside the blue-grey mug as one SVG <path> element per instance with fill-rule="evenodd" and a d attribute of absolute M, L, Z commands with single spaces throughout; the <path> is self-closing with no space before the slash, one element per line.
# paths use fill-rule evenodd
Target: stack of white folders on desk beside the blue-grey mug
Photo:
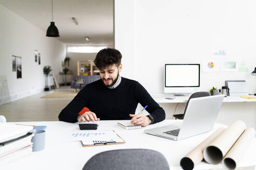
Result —
<path fill-rule="evenodd" d="M 0 165 L 32 153 L 33 126 L 0 123 Z"/>

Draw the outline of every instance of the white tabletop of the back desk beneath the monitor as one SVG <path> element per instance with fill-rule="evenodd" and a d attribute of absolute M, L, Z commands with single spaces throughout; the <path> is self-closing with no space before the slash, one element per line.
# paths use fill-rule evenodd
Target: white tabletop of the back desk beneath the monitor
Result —
<path fill-rule="evenodd" d="M 252 97 L 256 97 L 254 95 L 251 95 Z M 175 96 L 171 97 L 174 98 L 173 100 L 166 99 L 165 97 L 160 97 L 160 98 L 154 98 L 153 99 L 157 103 L 186 103 L 188 101 L 188 96 Z M 227 96 L 224 97 L 223 100 L 224 103 L 226 102 L 256 102 L 256 98 L 242 98 L 239 96 Z"/>

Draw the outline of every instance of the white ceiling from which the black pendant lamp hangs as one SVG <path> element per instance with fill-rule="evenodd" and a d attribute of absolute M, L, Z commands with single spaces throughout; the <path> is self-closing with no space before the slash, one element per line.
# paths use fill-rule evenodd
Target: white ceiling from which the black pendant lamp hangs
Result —
<path fill-rule="evenodd" d="M 51 0 L 0 0 L 45 32 L 52 21 Z M 113 46 L 113 0 L 53 0 L 54 22 L 66 45 Z M 72 17 L 78 20 L 76 25 Z M 89 41 L 85 41 L 85 37 Z M 49 37 L 52 38 L 52 37 Z"/>

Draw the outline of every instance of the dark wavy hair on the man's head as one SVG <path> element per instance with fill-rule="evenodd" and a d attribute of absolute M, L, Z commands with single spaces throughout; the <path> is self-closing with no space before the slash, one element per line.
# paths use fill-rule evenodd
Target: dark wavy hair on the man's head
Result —
<path fill-rule="evenodd" d="M 116 64 L 118 67 L 121 64 L 122 54 L 114 48 L 105 48 L 100 50 L 94 63 L 99 69 L 106 68 L 109 65 Z"/>

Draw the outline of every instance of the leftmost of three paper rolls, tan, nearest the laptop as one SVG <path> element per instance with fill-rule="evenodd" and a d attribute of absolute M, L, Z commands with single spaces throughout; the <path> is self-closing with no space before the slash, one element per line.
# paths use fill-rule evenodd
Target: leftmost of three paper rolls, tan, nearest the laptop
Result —
<path fill-rule="evenodd" d="M 224 127 L 217 129 L 211 136 L 199 144 L 196 148 L 191 150 L 184 158 L 181 159 L 180 165 L 184 170 L 193 169 L 203 159 L 203 149 L 206 148 L 212 140 L 219 136 L 223 131 Z"/>

